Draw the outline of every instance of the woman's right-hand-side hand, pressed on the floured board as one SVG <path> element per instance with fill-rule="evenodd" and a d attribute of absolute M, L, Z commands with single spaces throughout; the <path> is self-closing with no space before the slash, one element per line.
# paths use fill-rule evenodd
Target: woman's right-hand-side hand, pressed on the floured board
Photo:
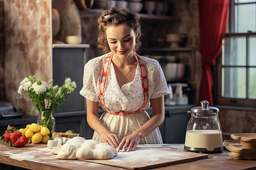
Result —
<path fill-rule="evenodd" d="M 142 139 L 142 135 L 133 133 L 122 139 L 122 142 L 119 144 L 117 151 L 121 151 L 121 152 L 135 151 L 141 139 Z"/>

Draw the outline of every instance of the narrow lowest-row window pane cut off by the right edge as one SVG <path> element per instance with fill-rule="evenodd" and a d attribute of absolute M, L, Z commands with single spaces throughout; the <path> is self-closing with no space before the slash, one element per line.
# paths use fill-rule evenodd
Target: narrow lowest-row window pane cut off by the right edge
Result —
<path fill-rule="evenodd" d="M 248 97 L 249 99 L 256 99 L 256 68 L 249 69 L 249 89 Z"/>

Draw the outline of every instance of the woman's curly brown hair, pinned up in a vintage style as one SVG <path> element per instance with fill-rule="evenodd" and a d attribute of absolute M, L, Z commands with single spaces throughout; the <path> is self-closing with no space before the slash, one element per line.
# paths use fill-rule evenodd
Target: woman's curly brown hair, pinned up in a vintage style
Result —
<path fill-rule="evenodd" d="M 141 24 L 139 24 L 139 15 L 129 9 L 116 10 L 114 7 L 108 11 L 102 12 L 98 18 L 98 48 L 101 48 L 104 53 L 110 52 L 108 40 L 106 38 L 106 27 L 109 25 L 119 25 L 126 23 L 129 27 L 133 28 L 134 32 L 137 32 L 135 50 L 137 51 L 141 47 Z"/>

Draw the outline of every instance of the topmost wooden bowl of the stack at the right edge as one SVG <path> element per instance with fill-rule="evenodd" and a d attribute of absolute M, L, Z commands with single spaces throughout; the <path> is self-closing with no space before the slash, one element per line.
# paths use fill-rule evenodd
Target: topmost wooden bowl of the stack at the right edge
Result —
<path fill-rule="evenodd" d="M 230 137 L 240 141 L 243 148 L 256 148 L 256 133 L 236 133 Z"/>

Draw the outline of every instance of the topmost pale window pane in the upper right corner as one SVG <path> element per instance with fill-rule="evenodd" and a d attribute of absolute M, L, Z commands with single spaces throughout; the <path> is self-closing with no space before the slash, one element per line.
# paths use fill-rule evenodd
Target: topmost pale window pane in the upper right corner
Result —
<path fill-rule="evenodd" d="M 255 32 L 255 5 L 256 4 L 245 4 L 236 6 L 235 15 L 235 32 L 245 33 L 248 31 Z"/>

